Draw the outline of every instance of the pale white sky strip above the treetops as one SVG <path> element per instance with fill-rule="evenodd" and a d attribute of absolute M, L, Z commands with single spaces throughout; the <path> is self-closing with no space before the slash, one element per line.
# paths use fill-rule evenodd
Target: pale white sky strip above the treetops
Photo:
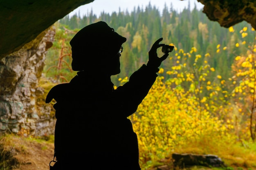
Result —
<path fill-rule="evenodd" d="M 189 2 L 191 10 L 194 8 L 195 5 L 197 9 L 202 9 L 204 7 L 204 5 L 197 0 L 94 0 L 89 4 L 78 7 L 69 15 L 78 15 L 80 12 L 80 15 L 82 17 L 90 13 L 90 11 L 92 10 L 93 13 L 96 14 L 97 17 L 99 17 L 101 12 L 103 11 L 110 14 L 114 11 L 118 12 L 119 7 L 121 11 L 128 10 L 128 12 L 130 13 L 131 11 L 133 11 L 134 7 L 137 9 L 137 7 L 139 6 L 141 9 L 145 9 L 145 7 L 148 6 L 149 2 L 152 7 L 155 6 L 157 9 L 159 9 L 160 12 L 162 12 L 165 3 L 168 9 L 170 9 L 172 3 L 173 9 L 177 12 L 180 12 L 184 8 L 187 8 Z"/>

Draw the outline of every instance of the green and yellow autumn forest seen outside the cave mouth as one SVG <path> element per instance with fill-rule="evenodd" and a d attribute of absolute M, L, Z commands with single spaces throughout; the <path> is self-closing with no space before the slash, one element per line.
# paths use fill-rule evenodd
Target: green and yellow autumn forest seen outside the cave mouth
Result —
<path fill-rule="evenodd" d="M 224 28 L 202 10 L 188 5 L 177 12 L 172 4 L 163 11 L 149 3 L 131 13 L 102 12 L 97 17 L 91 10 L 84 16 L 67 15 L 54 24 L 46 77 L 60 83 L 76 75 L 69 42 L 81 28 L 100 20 L 127 38 L 121 73 L 112 76 L 115 88 L 146 64 L 157 39 L 175 46 L 137 112 L 129 117 L 143 168 L 173 152 L 215 154 L 230 166 L 256 168 L 256 33 L 250 24 Z M 97 45 L 101 50 L 104 44 Z M 158 55 L 163 53 L 159 50 Z"/>

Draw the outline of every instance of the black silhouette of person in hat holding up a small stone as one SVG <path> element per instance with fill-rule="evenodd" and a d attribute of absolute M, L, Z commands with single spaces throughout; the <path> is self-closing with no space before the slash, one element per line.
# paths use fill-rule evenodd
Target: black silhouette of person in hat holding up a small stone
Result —
<path fill-rule="evenodd" d="M 56 100 L 54 145 L 61 170 L 140 170 L 137 135 L 127 117 L 146 97 L 168 56 L 157 57 L 164 46 L 160 41 L 148 52 L 148 63 L 114 89 L 111 76 L 120 73 L 126 38 L 102 21 L 74 35 L 70 45 L 77 75 L 54 86 L 45 101 Z"/>

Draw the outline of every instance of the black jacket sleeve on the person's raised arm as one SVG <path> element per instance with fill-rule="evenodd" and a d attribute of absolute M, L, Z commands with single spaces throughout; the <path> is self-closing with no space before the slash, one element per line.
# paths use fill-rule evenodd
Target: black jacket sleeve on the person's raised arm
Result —
<path fill-rule="evenodd" d="M 130 76 L 129 82 L 115 90 L 115 96 L 121 100 L 119 101 L 121 109 L 126 117 L 136 112 L 139 104 L 154 84 L 157 71 L 159 71 L 158 68 L 152 69 L 143 64 Z"/>

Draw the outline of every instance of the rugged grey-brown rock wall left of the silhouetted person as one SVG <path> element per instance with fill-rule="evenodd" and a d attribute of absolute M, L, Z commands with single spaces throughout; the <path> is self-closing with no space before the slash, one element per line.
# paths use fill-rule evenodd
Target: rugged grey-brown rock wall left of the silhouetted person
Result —
<path fill-rule="evenodd" d="M 47 49 L 54 41 L 51 26 L 19 51 L 0 60 L 0 133 L 53 134 L 50 106 L 37 106 L 44 89 L 38 87 Z"/>

